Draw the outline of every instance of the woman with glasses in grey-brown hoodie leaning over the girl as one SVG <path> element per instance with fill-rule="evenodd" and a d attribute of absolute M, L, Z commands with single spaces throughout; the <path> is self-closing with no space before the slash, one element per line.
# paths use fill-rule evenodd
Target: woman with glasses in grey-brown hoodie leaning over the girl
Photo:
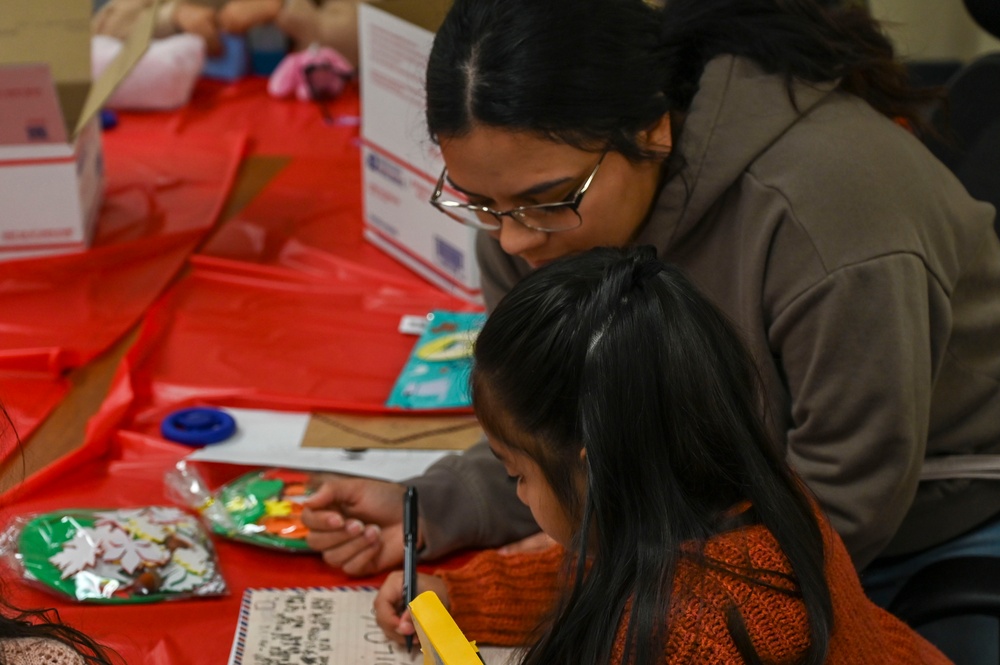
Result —
<path fill-rule="evenodd" d="M 431 203 L 483 229 L 488 308 L 596 246 L 679 266 L 745 336 L 782 452 L 888 602 L 915 562 L 1000 555 L 1000 484 L 981 479 L 1000 241 L 915 135 L 928 93 L 841 4 L 457 0 L 427 69 Z M 537 530 L 485 446 L 412 483 L 425 558 Z M 327 483 L 311 543 L 349 573 L 396 565 L 400 496 Z"/>

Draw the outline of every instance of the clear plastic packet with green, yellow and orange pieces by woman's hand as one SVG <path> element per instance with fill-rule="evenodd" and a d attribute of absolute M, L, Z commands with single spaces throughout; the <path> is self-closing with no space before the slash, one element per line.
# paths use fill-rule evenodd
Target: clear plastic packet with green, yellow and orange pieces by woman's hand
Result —
<path fill-rule="evenodd" d="M 308 474 L 267 468 L 244 474 L 209 492 L 197 470 L 184 461 L 166 474 L 168 491 L 198 511 L 215 533 L 261 547 L 310 552 L 302 503 Z"/>

